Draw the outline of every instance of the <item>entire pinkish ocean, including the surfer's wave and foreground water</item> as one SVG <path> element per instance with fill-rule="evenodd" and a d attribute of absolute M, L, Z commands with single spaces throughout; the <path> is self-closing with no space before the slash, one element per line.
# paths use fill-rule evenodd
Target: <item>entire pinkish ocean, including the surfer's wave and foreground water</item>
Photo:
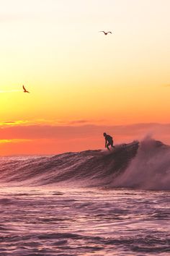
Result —
<path fill-rule="evenodd" d="M 170 147 L 0 158 L 0 255 L 170 255 Z"/>

